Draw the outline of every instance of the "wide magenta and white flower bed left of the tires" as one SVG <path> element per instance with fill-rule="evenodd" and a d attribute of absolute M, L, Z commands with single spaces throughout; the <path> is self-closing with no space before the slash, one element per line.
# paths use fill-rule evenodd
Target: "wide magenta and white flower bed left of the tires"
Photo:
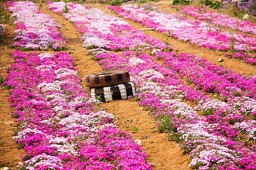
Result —
<path fill-rule="evenodd" d="M 11 88 L 12 117 L 18 118 L 13 138 L 26 153 L 20 169 L 151 169 L 144 150 L 79 85 L 68 53 L 11 56 L 4 85 Z"/>

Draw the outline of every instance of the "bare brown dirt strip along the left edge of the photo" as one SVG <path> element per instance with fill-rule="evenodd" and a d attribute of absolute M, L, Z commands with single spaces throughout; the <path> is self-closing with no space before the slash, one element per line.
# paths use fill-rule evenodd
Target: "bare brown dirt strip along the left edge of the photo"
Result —
<path fill-rule="evenodd" d="M 3 2 L 1 4 L 5 6 Z M 8 13 L 6 8 L 5 12 Z M 14 38 L 15 26 L 12 19 L 3 25 L 5 27 L 0 39 L 0 79 L 6 77 L 6 70 L 12 61 L 8 53 L 14 51 L 8 48 Z M 9 107 L 8 97 L 8 90 L 0 85 L 0 167 L 15 168 L 22 161 L 20 155 L 23 155 L 23 150 L 12 139 L 17 119 L 10 117 L 13 110 Z"/>

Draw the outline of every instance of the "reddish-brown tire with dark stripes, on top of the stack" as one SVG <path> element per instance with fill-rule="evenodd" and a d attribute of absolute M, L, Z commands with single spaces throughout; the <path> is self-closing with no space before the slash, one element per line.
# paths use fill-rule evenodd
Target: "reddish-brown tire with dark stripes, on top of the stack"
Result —
<path fill-rule="evenodd" d="M 120 70 L 101 71 L 86 75 L 84 82 L 91 88 L 119 85 L 130 82 L 130 74 Z"/>

